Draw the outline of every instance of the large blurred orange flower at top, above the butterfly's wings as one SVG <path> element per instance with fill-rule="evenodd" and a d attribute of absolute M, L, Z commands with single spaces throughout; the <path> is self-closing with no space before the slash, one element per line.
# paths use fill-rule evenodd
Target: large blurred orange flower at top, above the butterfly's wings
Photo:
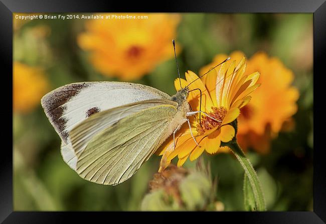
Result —
<path fill-rule="evenodd" d="M 174 57 L 172 40 L 180 16 L 174 14 L 122 14 L 147 19 L 98 19 L 86 23 L 79 46 L 103 75 L 135 80 L 162 61 Z M 104 15 L 109 16 L 109 14 Z M 177 47 L 180 49 L 180 47 Z"/>

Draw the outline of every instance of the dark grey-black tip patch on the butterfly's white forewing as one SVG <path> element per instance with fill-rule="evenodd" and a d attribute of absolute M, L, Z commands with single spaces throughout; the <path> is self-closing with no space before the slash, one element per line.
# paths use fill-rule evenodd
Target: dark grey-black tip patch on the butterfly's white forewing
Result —
<path fill-rule="evenodd" d="M 44 112 L 64 140 L 68 138 L 68 133 L 63 131 L 67 123 L 66 119 L 62 117 L 65 111 L 64 104 L 88 86 L 89 84 L 87 83 L 66 85 L 48 93 L 42 98 Z"/>

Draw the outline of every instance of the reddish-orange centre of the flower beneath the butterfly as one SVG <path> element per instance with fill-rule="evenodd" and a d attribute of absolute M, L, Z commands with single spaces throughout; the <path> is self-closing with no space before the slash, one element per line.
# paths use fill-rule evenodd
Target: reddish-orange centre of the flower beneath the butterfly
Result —
<path fill-rule="evenodd" d="M 222 121 L 227 114 L 224 107 L 211 107 L 212 112 L 208 113 L 208 116 L 202 115 L 201 123 L 198 121 L 197 131 L 200 135 L 203 135 L 206 131 L 209 131 L 222 124 Z M 212 119 L 214 118 L 214 119 Z"/>

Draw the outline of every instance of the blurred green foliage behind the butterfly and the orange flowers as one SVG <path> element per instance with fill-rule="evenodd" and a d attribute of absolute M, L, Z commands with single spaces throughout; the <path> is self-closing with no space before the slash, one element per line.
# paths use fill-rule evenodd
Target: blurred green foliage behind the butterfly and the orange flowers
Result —
<path fill-rule="evenodd" d="M 180 71 L 199 69 L 216 54 L 257 51 L 279 57 L 295 74 L 300 91 L 293 131 L 280 133 L 271 152 L 249 151 L 263 185 L 268 210 L 312 210 L 312 14 L 182 14 L 178 28 Z M 42 66 L 51 89 L 80 81 L 110 81 L 96 72 L 76 43 L 84 29 L 82 20 L 33 20 L 16 30 L 14 60 Z M 46 26 L 41 40 L 31 30 Z M 172 47 L 172 45 L 171 45 Z M 134 82 L 174 94 L 177 77 L 173 58 Z M 28 114 L 13 115 L 15 210 L 139 210 L 148 182 L 157 171 L 152 156 L 139 171 L 117 186 L 105 186 L 80 178 L 63 161 L 60 138 L 41 105 Z M 232 154 L 204 155 L 217 177 L 216 199 L 225 210 L 244 210 L 243 169 Z M 174 161 L 176 162 L 176 161 Z M 184 167 L 194 167 L 187 161 Z"/>

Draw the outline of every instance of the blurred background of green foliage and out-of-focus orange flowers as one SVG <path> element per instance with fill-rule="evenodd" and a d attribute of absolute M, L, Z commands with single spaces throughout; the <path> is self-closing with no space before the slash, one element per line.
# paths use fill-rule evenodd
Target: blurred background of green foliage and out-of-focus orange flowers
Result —
<path fill-rule="evenodd" d="M 15 210 L 160 208 L 147 203 L 159 156 L 117 186 L 86 181 L 63 161 L 60 138 L 40 100 L 55 88 L 83 81 L 128 81 L 175 94 L 172 39 L 182 76 L 187 70 L 202 73 L 221 54 L 244 54 L 248 69 L 261 72 L 262 85 L 252 96 L 264 103 L 242 109 L 239 144 L 258 173 L 268 210 L 313 209 L 312 14 L 136 14 L 136 19 L 107 20 L 16 15 L 29 14 L 13 16 Z M 210 191 L 213 210 L 245 210 L 238 161 L 227 150 L 204 154 L 211 185 L 201 192 Z M 195 166 L 188 160 L 178 175 L 182 179 Z"/>

